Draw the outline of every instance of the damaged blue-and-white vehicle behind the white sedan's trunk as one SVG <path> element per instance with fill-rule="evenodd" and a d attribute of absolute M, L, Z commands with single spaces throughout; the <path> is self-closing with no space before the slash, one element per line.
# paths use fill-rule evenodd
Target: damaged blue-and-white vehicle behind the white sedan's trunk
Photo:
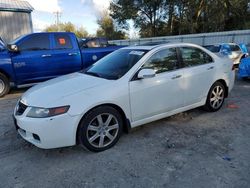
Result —
<path fill-rule="evenodd" d="M 249 55 L 247 48 L 244 44 L 238 45 L 236 43 L 220 43 L 206 45 L 204 47 L 217 55 L 227 55 L 236 66 L 240 64 L 241 59 Z"/>

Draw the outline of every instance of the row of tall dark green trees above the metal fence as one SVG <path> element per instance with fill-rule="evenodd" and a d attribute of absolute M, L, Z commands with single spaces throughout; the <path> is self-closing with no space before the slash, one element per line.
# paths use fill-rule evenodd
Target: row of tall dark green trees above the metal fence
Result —
<path fill-rule="evenodd" d="M 141 37 L 249 29 L 249 0 L 114 0 L 111 17 Z"/>

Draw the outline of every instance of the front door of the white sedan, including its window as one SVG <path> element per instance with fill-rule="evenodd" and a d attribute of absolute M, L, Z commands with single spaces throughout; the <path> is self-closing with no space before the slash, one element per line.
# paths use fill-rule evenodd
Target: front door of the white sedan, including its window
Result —
<path fill-rule="evenodd" d="M 183 70 L 178 67 L 176 48 L 161 49 L 143 68 L 154 69 L 156 76 L 129 83 L 133 121 L 142 120 L 183 106 Z"/>

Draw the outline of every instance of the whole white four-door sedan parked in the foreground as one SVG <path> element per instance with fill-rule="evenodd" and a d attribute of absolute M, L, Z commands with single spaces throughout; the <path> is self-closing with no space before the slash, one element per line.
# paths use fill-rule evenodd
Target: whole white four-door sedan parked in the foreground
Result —
<path fill-rule="evenodd" d="M 106 150 L 122 131 L 203 106 L 221 108 L 233 63 L 194 44 L 117 50 L 83 72 L 29 89 L 18 101 L 18 133 L 40 148 Z"/>

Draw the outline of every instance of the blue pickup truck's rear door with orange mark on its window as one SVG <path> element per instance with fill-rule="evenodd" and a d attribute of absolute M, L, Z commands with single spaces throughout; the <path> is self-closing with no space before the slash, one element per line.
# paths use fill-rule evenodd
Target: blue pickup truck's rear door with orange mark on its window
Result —
<path fill-rule="evenodd" d="M 56 76 L 81 70 L 82 60 L 75 36 L 68 33 L 54 33 L 51 63 Z"/>

